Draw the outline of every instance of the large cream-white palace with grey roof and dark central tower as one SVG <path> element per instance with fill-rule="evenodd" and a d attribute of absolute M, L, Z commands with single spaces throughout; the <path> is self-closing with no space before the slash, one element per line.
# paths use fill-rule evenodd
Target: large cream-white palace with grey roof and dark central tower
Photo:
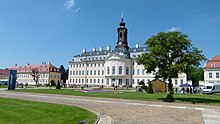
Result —
<path fill-rule="evenodd" d="M 118 39 L 114 49 L 93 48 L 91 51 L 83 49 L 82 53 L 75 55 L 69 62 L 68 85 L 103 85 L 136 87 L 140 81 L 154 80 L 155 73 L 146 73 L 143 65 L 136 63 L 136 58 L 148 52 L 146 46 L 128 46 L 128 29 L 123 18 L 117 28 Z M 174 87 L 186 83 L 186 74 L 180 74 L 173 79 Z"/>

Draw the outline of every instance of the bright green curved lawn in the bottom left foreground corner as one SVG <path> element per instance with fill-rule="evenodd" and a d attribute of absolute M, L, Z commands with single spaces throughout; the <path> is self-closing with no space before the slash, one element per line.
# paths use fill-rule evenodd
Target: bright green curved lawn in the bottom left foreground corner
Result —
<path fill-rule="evenodd" d="M 94 124 L 97 119 L 79 107 L 8 98 L 0 98 L 0 113 L 0 124 Z"/>

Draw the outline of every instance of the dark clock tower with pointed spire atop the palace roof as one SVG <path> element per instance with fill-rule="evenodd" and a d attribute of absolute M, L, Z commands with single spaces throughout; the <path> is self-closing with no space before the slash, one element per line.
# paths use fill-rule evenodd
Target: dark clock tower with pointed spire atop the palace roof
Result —
<path fill-rule="evenodd" d="M 125 27 L 125 22 L 123 17 L 121 18 L 120 27 L 117 29 L 118 33 L 118 42 L 116 48 L 126 48 L 128 49 L 128 41 L 127 41 L 127 34 L 128 29 Z"/>

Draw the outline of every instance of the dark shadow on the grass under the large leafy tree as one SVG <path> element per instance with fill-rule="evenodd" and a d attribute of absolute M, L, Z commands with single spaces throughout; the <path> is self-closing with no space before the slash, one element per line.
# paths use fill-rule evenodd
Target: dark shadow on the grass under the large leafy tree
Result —
<path fill-rule="evenodd" d="M 166 98 L 159 98 L 159 100 L 162 100 L 165 102 Z M 192 104 L 220 104 L 220 100 L 215 99 L 207 99 L 207 98 L 175 98 L 176 101 L 180 102 L 188 102 Z"/>

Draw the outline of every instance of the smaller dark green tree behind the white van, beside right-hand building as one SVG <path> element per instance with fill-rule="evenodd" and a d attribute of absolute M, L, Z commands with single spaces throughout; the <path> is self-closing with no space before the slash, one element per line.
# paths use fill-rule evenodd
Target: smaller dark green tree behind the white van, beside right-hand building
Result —
<path fill-rule="evenodd" d="M 192 80 L 193 87 L 199 86 L 199 81 L 204 80 L 203 68 L 191 66 L 189 70 L 187 78 Z"/>

